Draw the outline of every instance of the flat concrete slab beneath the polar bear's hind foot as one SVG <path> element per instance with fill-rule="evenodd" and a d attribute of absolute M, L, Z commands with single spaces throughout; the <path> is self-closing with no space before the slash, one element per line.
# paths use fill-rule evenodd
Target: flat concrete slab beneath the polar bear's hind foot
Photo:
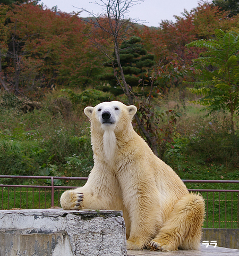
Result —
<path fill-rule="evenodd" d="M 178 250 L 173 252 L 159 252 L 159 251 L 149 251 L 149 250 L 140 250 L 132 251 L 127 250 L 128 256 L 239 256 L 239 250 L 228 249 L 223 247 L 214 247 L 209 245 L 206 248 L 206 245 L 200 244 L 200 249 L 197 251 L 186 251 Z"/>

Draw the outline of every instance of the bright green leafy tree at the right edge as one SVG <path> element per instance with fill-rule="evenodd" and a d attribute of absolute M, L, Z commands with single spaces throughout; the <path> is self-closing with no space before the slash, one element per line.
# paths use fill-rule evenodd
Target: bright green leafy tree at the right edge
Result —
<path fill-rule="evenodd" d="M 198 103 L 206 106 L 209 113 L 229 111 L 234 132 L 233 117 L 239 114 L 239 34 L 216 29 L 215 36 L 214 40 L 201 39 L 187 45 L 206 49 L 194 60 L 199 81 L 187 84 L 194 85 L 189 88 L 192 93 L 202 95 Z"/>

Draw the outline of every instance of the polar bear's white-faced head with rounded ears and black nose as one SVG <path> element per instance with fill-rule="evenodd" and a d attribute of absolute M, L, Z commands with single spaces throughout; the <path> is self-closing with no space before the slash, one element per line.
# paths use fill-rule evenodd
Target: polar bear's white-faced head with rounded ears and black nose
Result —
<path fill-rule="evenodd" d="M 88 106 L 84 113 L 93 125 L 100 125 L 103 130 L 123 129 L 126 123 L 131 122 L 137 108 L 134 105 L 112 101 L 103 102 L 95 106 Z"/>

